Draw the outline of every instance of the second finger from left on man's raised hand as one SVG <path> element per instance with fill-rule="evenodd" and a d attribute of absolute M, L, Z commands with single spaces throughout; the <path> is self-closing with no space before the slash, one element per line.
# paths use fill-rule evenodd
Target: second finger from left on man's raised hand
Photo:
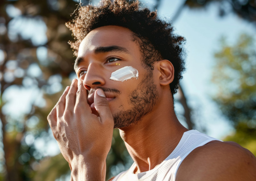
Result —
<path fill-rule="evenodd" d="M 66 108 L 72 109 L 74 111 L 75 103 L 76 103 L 76 91 L 77 91 L 77 79 L 73 79 L 72 84 L 69 88 L 68 94 L 66 96 Z"/>

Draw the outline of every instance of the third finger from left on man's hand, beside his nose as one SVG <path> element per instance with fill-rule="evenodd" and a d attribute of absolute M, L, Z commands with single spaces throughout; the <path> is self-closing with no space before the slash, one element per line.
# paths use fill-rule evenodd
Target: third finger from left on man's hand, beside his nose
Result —
<path fill-rule="evenodd" d="M 88 107 L 90 108 L 89 104 L 87 103 L 88 92 L 87 89 L 84 88 L 84 83 L 82 80 L 78 80 L 78 88 L 76 92 L 76 105 L 75 107 Z M 90 109 L 91 110 L 91 109 Z"/>

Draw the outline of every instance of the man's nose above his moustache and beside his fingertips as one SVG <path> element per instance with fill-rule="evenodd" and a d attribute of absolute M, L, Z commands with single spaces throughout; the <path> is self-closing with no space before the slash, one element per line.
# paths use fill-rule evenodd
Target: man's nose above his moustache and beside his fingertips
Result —
<path fill-rule="evenodd" d="M 89 91 L 93 87 L 103 86 L 105 84 L 105 79 L 103 78 L 103 72 L 100 69 L 100 65 L 90 64 L 88 66 L 83 83 L 84 87 Z"/>

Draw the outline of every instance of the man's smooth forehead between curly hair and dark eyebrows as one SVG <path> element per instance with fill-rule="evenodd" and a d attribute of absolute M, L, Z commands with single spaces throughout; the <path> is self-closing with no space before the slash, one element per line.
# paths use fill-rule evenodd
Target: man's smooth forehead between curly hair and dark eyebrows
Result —
<path fill-rule="evenodd" d="M 133 41 L 132 31 L 121 26 L 102 26 L 86 35 L 78 49 L 78 57 L 84 57 L 96 47 L 120 46 L 134 51 L 138 46 Z"/>

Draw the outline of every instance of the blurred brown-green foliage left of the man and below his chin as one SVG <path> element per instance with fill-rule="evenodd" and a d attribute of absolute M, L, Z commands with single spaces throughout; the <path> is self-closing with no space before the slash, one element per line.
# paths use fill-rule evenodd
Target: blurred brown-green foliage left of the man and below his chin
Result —
<path fill-rule="evenodd" d="M 89 1 L 81 2 L 86 5 Z M 3 60 L 0 56 L 0 168 L 4 168 L 0 169 L 0 180 L 63 180 L 61 175 L 70 172 L 61 154 L 50 157 L 45 150 L 51 152 L 48 143 L 53 140 L 47 115 L 70 85 L 69 77 L 75 75 L 76 57 L 68 45 L 73 38 L 65 23 L 72 19 L 70 13 L 76 4 L 75 0 L 0 1 L 0 54 L 4 55 Z M 36 41 L 44 35 L 36 32 L 36 26 L 45 29 L 44 41 Z M 19 96 L 13 98 L 15 94 Z M 14 102 L 24 96 L 29 105 Z M 28 109 L 16 111 L 14 104 Z M 123 170 L 131 165 L 128 155 L 115 130 L 107 177 L 115 174 L 115 165 Z"/>

